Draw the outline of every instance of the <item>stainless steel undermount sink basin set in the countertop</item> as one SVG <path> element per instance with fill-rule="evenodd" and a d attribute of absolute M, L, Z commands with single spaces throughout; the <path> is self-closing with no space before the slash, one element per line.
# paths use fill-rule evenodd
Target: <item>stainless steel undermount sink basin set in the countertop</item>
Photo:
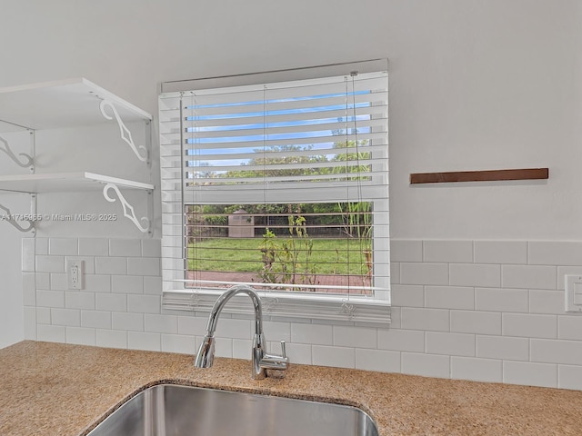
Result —
<path fill-rule="evenodd" d="M 377 436 L 355 407 L 161 384 L 142 391 L 88 436 Z"/>

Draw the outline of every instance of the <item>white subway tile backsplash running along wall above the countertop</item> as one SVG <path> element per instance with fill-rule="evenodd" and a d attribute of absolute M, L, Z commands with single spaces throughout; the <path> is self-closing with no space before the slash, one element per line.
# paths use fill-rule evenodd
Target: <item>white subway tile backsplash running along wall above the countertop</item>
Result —
<path fill-rule="evenodd" d="M 265 322 L 291 362 L 582 390 L 582 314 L 564 312 L 564 277 L 582 243 L 393 240 L 389 328 Z M 194 354 L 205 313 L 161 307 L 159 240 L 23 240 L 25 337 Z M 85 289 L 65 265 L 85 262 Z M 252 322 L 224 316 L 216 355 L 248 358 Z"/>

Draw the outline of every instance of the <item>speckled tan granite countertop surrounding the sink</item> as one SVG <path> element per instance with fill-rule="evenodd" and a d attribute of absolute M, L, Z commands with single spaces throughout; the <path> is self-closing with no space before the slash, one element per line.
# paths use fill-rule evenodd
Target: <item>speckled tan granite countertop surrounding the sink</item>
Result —
<path fill-rule="evenodd" d="M 291 365 L 254 381 L 250 364 L 193 356 L 19 342 L 0 350 L 0 435 L 85 435 L 117 404 L 160 381 L 362 408 L 388 435 L 580 435 L 582 391 Z"/>

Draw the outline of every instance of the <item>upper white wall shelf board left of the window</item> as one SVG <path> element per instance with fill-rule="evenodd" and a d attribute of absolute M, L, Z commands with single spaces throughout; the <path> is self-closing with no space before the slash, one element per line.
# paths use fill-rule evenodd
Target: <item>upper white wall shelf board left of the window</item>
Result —
<path fill-rule="evenodd" d="M 0 88 L 0 121 L 41 130 L 104 124 L 102 100 L 115 104 L 125 123 L 152 115 L 84 78 Z M 0 123 L 0 129 L 5 123 Z M 2 131 L 2 130 L 0 130 Z"/>

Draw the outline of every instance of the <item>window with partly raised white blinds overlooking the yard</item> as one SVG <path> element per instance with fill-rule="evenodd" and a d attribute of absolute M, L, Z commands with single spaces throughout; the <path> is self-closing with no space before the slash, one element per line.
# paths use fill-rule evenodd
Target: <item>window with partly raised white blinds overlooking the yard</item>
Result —
<path fill-rule="evenodd" d="M 389 321 L 386 71 L 159 106 L 166 308 L 205 311 L 246 282 L 266 315 Z"/>

